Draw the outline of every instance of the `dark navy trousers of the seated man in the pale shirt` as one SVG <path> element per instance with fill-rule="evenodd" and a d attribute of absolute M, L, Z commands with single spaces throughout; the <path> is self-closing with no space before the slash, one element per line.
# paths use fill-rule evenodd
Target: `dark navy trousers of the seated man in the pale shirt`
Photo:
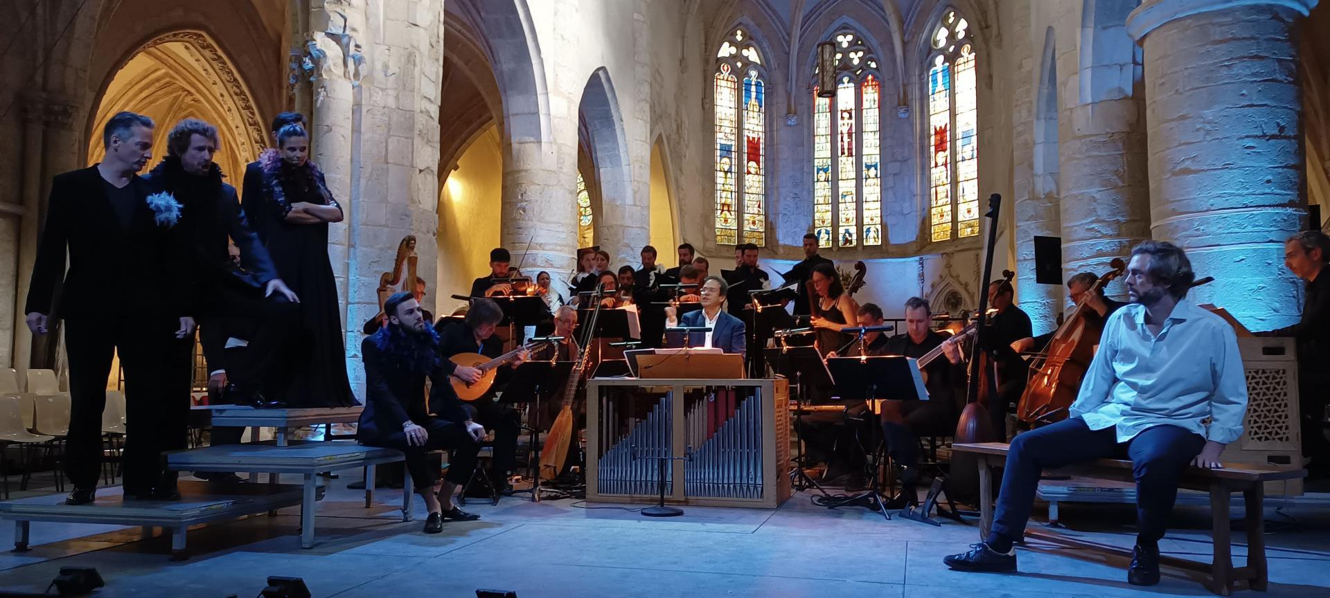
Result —
<path fill-rule="evenodd" d="M 1164 537 L 1173 512 L 1177 478 L 1202 447 L 1205 439 L 1176 425 L 1156 425 L 1119 443 L 1112 427 L 1092 431 L 1080 417 L 1017 435 L 1007 453 L 991 534 L 1012 541 L 1024 536 L 1043 469 L 1092 458 L 1128 457 L 1136 477 L 1137 542 L 1153 545 Z"/>

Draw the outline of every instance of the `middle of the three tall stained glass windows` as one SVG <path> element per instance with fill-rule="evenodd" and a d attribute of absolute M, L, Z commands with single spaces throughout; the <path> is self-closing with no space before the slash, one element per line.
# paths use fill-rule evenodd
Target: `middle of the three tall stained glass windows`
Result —
<path fill-rule="evenodd" d="M 882 245 L 882 76 L 858 33 L 841 31 L 831 43 L 835 97 L 813 89 L 813 231 L 822 247 Z"/>

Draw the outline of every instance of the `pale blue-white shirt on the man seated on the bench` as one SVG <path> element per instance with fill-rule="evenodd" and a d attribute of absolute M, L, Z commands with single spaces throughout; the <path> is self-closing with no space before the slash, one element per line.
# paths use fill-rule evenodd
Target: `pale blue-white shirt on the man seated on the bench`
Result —
<path fill-rule="evenodd" d="M 1229 444 L 1242 436 L 1246 403 L 1233 327 L 1184 298 L 1158 336 L 1138 303 L 1108 316 L 1069 415 L 1091 429 L 1116 427 L 1119 443 L 1172 424 Z"/>

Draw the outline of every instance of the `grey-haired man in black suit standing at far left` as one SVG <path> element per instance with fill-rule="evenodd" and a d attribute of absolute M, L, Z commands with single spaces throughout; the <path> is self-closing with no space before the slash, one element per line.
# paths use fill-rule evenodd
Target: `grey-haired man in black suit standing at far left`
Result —
<path fill-rule="evenodd" d="M 148 185 L 137 175 L 153 155 L 153 121 L 117 113 L 102 130 L 102 144 L 106 157 L 100 163 L 61 174 L 51 185 L 24 308 L 36 335 L 51 330 L 52 312 L 65 320 L 72 400 L 65 473 L 74 485 L 65 502 L 70 505 L 94 500 L 101 412 L 114 351 L 125 372 L 126 421 L 133 432 L 124 453 L 125 494 L 153 494 L 161 482 L 152 478 L 154 424 L 166 401 L 188 400 L 170 396 L 162 368 L 194 334 L 186 287 L 178 278 L 188 271 L 181 259 L 185 250 L 170 230 L 180 205 L 166 197 L 150 201 Z M 166 486 L 164 497 L 169 498 L 176 489 Z"/>

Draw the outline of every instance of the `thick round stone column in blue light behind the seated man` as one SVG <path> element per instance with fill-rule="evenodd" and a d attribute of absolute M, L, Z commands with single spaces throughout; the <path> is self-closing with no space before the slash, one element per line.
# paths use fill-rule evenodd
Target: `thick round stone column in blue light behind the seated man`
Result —
<path fill-rule="evenodd" d="M 1295 322 L 1283 241 L 1306 218 L 1294 21 L 1317 0 L 1148 0 L 1128 17 L 1145 50 L 1150 230 L 1216 282 L 1197 302 L 1252 330 Z"/>

